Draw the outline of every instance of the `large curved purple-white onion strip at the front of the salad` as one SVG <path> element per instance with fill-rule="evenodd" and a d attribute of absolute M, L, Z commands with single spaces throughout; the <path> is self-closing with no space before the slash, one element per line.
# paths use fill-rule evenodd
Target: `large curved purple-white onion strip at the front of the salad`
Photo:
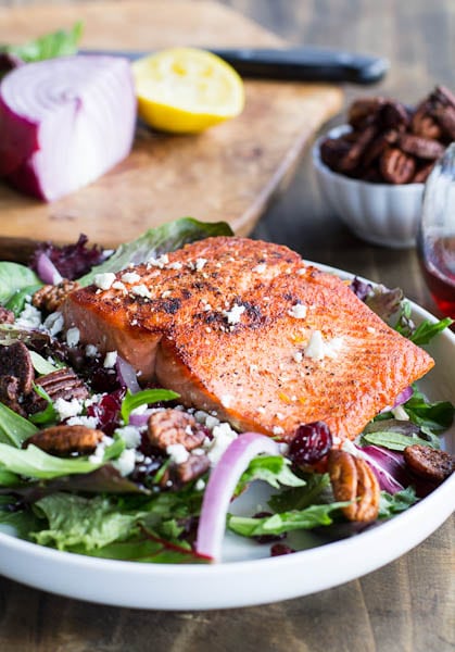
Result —
<path fill-rule="evenodd" d="M 226 514 L 233 491 L 251 460 L 260 453 L 279 455 L 278 444 L 265 435 L 244 432 L 235 439 L 212 471 L 202 502 L 195 550 L 219 560 L 226 528 Z"/>

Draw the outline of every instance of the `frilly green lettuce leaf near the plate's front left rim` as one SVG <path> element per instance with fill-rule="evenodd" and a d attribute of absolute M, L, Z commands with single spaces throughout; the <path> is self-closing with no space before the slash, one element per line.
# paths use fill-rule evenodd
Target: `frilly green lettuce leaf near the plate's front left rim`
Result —
<path fill-rule="evenodd" d="M 68 493 L 47 496 L 35 503 L 34 510 L 47 518 L 49 527 L 30 532 L 30 537 L 59 550 L 74 546 L 93 550 L 126 539 L 137 531 L 139 518 L 146 515 L 124 512 L 115 500 L 102 496 L 88 499 Z"/>

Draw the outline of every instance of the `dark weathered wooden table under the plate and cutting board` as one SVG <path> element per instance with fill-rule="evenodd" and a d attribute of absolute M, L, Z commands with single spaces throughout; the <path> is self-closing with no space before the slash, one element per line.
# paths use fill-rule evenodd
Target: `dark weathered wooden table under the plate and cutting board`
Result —
<path fill-rule="evenodd" d="M 25 4 L 7 0 L 0 4 Z M 365 50 L 392 68 L 378 88 L 414 102 L 435 83 L 455 88 L 451 0 L 225 0 L 295 43 Z M 340 122 L 340 121 L 339 121 Z M 414 250 L 368 246 L 327 213 L 309 156 L 254 235 L 303 256 L 401 286 L 434 310 Z M 455 397 L 454 397 L 455 398 Z M 0 578 L 2 652 L 448 652 L 455 645 L 454 519 L 359 580 L 288 602 L 228 612 L 161 613 L 92 605 Z"/>

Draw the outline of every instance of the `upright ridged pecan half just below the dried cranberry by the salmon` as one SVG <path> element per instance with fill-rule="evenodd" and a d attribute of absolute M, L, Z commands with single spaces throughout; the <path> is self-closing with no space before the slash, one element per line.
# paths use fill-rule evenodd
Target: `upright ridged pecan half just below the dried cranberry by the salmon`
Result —
<path fill-rule="evenodd" d="M 378 517 L 379 482 L 365 460 L 332 449 L 328 455 L 328 472 L 336 500 L 351 501 L 342 509 L 349 521 L 368 522 Z"/>

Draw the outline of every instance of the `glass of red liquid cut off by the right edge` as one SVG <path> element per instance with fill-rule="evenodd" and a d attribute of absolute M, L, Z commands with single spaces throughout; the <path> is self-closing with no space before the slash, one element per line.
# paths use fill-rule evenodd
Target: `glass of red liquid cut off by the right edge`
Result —
<path fill-rule="evenodd" d="M 428 177 L 417 242 L 428 289 L 441 312 L 455 318 L 455 142 Z"/>

